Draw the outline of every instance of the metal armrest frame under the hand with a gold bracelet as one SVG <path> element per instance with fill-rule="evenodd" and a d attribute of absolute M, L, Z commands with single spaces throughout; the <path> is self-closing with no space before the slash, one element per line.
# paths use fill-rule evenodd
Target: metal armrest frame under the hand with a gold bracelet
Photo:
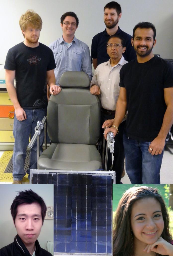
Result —
<path fill-rule="evenodd" d="M 102 153 L 102 168 L 104 166 L 104 147 L 105 147 L 105 138 L 103 137 L 103 153 Z M 107 134 L 107 145 L 106 145 L 106 154 L 105 154 L 105 171 L 107 171 L 108 164 L 108 148 L 111 153 L 114 152 L 114 138 L 113 132 L 108 132 Z"/>

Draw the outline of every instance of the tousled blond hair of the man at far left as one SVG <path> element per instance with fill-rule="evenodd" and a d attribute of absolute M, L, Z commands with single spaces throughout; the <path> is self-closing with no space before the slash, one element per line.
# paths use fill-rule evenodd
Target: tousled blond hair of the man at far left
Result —
<path fill-rule="evenodd" d="M 40 31 L 42 29 L 42 19 L 33 10 L 27 10 L 24 14 L 22 14 L 19 20 L 19 25 L 22 31 L 25 31 L 29 24 Z"/>

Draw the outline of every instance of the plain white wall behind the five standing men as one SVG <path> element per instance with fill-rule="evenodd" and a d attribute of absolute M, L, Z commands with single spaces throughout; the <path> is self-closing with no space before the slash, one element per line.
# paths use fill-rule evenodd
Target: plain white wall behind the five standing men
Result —
<path fill-rule="evenodd" d="M 173 59 L 173 1 L 172 0 L 117 0 L 122 7 L 119 26 L 132 35 L 134 26 L 148 21 L 156 27 L 154 54 Z M 103 7 L 110 0 L 0 0 L 0 64 L 4 64 L 7 51 L 23 41 L 19 18 L 27 9 L 33 9 L 43 20 L 39 41 L 49 45 L 62 35 L 60 17 L 73 11 L 79 18 L 75 36 L 84 41 L 91 50 L 94 35 L 103 31 Z"/>

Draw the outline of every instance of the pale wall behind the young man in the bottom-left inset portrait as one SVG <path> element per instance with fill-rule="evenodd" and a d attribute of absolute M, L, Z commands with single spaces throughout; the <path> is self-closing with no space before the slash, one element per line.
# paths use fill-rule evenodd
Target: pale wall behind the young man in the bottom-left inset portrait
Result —
<path fill-rule="evenodd" d="M 46 206 L 54 206 L 54 187 L 44 184 L 24 184 L 24 185 L 0 185 L 0 248 L 12 243 L 17 234 L 10 206 L 17 192 L 25 189 L 32 189 L 41 196 Z M 46 250 L 47 241 L 54 241 L 54 220 L 44 220 L 41 233 L 38 237 L 39 244 Z"/>

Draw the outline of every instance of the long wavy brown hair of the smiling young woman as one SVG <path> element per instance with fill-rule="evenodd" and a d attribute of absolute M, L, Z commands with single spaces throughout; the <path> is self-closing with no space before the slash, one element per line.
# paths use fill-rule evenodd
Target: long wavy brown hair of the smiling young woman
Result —
<path fill-rule="evenodd" d="M 161 236 L 167 242 L 171 241 L 172 236 L 169 232 L 168 211 L 162 196 L 158 194 L 157 188 L 147 186 L 132 187 L 123 194 L 113 220 L 113 256 L 134 255 L 134 235 L 130 221 L 132 206 L 137 200 L 149 197 L 154 198 L 161 205 L 164 220 L 164 229 Z"/>

